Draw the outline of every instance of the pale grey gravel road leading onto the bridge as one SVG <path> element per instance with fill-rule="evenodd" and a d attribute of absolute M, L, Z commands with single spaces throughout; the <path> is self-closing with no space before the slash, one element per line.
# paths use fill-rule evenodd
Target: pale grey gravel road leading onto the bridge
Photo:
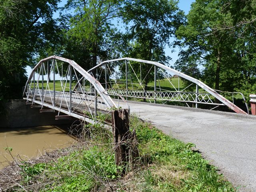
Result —
<path fill-rule="evenodd" d="M 239 191 L 256 192 L 256 116 L 128 102 L 131 114 L 166 134 L 196 144 Z M 124 106 L 120 103 L 120 106 Z"/>

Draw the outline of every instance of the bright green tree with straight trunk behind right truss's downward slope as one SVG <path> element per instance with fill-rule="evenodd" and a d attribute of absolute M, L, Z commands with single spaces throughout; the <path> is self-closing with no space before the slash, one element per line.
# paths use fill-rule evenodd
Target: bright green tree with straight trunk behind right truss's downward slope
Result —
<path fill-rule="evenodd" d="M 186 18 L 184 25 L 176 31 L 176 44 L 182 48 L 176 68 L 192 69 L 189 75 L 193 76 L 198 74 L 198 66 L 203 66 L 203 80 L 219 90 L 220 82 L 223 82 L 222 72 L 232 65 L 235 39 L 229 36 L 229 30 L 218 28 L 231 22 L 230 14 L 224 10 L 223 1 L 196 0 Z"/>

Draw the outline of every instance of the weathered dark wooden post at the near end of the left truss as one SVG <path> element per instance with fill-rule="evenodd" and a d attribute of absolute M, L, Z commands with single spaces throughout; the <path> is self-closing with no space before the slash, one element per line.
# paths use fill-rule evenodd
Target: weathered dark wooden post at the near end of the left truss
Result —
<path fill-rule="evenodd" d="M 135 132 L 130 132 L 129 130 L 127 109 L 117 109 L 112 111 L 112 129 L 116 165 L 122 165 L 124 162 L 131 162 L 131 158 L 138 155 L 138 150 L 136 146 L 134 146 L 134 140 L 136 140 Z"/>

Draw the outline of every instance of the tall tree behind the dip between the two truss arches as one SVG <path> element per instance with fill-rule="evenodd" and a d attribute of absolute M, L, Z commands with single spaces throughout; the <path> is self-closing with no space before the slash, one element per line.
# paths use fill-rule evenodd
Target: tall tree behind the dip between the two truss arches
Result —
<path fill-rule="evenodd" d="M 68 0 L 66 10 L 74 10 L 66 29 L 64 56 L 76 60 L 86 70 L 98 60 L 111 58 L 116 28 L 112 20 L 118 16 L 122 1 Z M 71 45 L 71 46 L 69 46 Z"/>

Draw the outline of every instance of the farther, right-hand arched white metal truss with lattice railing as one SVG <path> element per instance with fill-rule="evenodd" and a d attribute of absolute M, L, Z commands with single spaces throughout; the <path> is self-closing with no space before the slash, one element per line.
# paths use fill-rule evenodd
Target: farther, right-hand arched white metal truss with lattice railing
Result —
<path fill-rule="evenodd" d="M 112 97 L 143 99 L 148 102 L 182 102 L 189 107 L 227 106 L 246 114 L 233 102 L 200 80 L 158 62 L 120 58 L 101 62 L 88 70 Z M 86 87 L 91 89 L 91 86 Z M 88 90 L 89 91 L 89 90 Z M 93 92 L 93 90 L 90 90 Z"/>

